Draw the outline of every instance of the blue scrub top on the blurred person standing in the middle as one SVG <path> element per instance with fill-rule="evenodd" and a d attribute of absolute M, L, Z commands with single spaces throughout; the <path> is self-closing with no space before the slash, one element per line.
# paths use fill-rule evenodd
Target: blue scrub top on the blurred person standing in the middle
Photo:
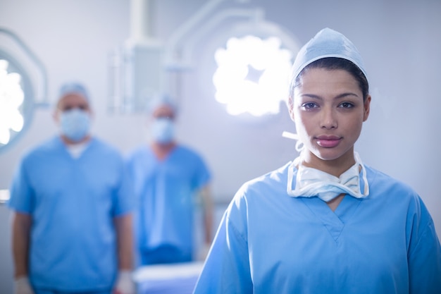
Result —
<path fill-rule="evenodd" d="M 211 179 L 204 160 L 182 145 L 159 160 L 150 147 L 142 146 L 129 155 L 128 169 L 138 203 L 135 235 L 141 254 L 167 246 L 184 258 L 178 261 L 190 261 L 195 193 Z"/>

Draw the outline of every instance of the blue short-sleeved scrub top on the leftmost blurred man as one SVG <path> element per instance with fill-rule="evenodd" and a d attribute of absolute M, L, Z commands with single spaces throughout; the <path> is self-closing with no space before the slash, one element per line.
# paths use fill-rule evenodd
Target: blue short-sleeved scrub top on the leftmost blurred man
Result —
<path fill-rule="evenodd" d="M 77 159 L 60 137 L 23 157 L 11 209 L 32 215 L 30 281 L 61 291 L 108 290 L 117 271 L 113 218 L 134 206 L 119 152 L 92 139 Z"/>

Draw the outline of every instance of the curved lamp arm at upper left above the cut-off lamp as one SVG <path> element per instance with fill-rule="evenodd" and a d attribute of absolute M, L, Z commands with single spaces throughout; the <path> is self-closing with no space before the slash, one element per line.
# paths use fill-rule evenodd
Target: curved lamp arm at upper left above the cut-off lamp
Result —
<path fill-rule="evenodd" d="M 29 47 L 25 44 L 25 42 L 22 41 L 17 35 L 15 35 L 14 32 L 11 30 L 6 29 L 5 27 L 0 27 L 0 33 L 3 33 L 4 35 L 7 35 L 13 41 L 15 44 L 18 45 L 25 54 L 27 54 L 27 57 L 30 58 L 30 60 L 35 63 L 35 66 L 37 66 L 38 71 L 40 72 L 42 78 L 41 78 L 41 95 L 39 95 L 37 101 L 34 101 L 35 106 L 47 106 L 49 105 L 48 99 L 47 99 L 47 73 L 46 68 L 44 68 L 44 65 L 42 61 L 40 61 L 35 54 L 32 53 Z"/>

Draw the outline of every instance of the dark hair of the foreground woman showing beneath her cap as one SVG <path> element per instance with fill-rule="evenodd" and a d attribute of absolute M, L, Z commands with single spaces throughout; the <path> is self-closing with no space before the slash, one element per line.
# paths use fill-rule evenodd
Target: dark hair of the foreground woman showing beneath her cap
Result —
<path fill-rule="evenodd" d="M 363 100 L 365 101 L 369 94 L 369 84 L 368 79 L 364 75 L 363 71 L 356 66 L 352 61 L 349 61 L 347 59 L 341 59 L 338 57 L 325 57 L 323 59 L 318 59 L 316 61 L 313 61 L 309 63 L 305 68 L 302 69 L 302 71 L 297 75 L 294 81 L 292 81 L 292 87 L 290 89 L 290 99 L 293 99 L 294 95 L 294 88 L 299 87 L 300 85 L 300 78 L 304 73 L 309 71 L 311 68 L 325 68 L 330 71 L 342 69 L 344 71 L 347 71 L 350 73 L 356 80 L 359 82 L 359 87 L 361 92 L 363 93 Z"/>

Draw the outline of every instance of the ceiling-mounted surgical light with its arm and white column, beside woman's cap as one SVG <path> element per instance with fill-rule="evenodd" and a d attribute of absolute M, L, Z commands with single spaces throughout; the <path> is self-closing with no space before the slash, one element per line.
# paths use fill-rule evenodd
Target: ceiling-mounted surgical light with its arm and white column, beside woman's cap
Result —
<path fill-rule="evenodd" d="M 263 9 L 241 6 L 250 0 L 230 1 L 219 9 L 223 2 L 227 1 L 207 0 L 161 42 L 150 32 L 150 1 L 131 0 L 130 37 L 109 62 L 108 110 L 140 113 L 159 93 L 179 100 L 182 73 L 201 66 L 195 52 L 207 52 L 213 61 L 216 51 L 218 68 L 207 75 L 213 75 L 213 99 L 232 115 L 277 114 L 299 46 L 289 32 L 265 20 Z"/>

